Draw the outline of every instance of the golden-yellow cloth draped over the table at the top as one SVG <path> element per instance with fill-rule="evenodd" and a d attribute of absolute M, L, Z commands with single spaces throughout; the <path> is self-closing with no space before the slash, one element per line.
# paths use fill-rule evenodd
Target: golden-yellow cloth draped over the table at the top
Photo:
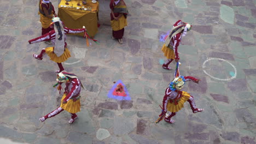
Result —
<path fill-rule="evenodd" d="M 77 3 L 80 3 L 78 6 Z M 94 35 L 98 31 L 97 23 L 98 23 L 98 1 L 96 3 L 92 3 L 91 0 L 87 0 L 87 3 L 84 5 L 82 3 L 82 0 L 75 1 L 72 0 L 71 2 L 68 2 L 69 4 L 66 5 L 65 0 L 61 0 L 59 4 L 59 11 L 58 16 L 60 17 L 61 21 L 64 23 L 64 25 L 68 28 L 83 28 L 83 26 L 86 27 L 88 34 L 90 37 L 94 37 Z M 61 5 L 66 5 L 67 8 L 61 7 Z M 72 7 L 73 8 L 68 8 Z M 90 8 L 91 11 L 85 11 L 82 9 L 75 9 L 75 8 Z M 73 35 L 80 35 L 84 36 L 83 33 L 73 34 Z"/>

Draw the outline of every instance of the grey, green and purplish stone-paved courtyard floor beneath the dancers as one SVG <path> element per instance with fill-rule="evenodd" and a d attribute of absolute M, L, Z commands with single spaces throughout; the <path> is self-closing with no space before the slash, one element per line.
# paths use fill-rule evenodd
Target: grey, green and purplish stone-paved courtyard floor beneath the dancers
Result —
<path fill-rule="evenodd" d="M 68 124 L 63 111 L 44 123 L 39 118 L 60 105 L 53 85 L 57 65 L 45 56 L 48 46 L 28 44 L 41 33 L 38 0 L 1 0 L 0 5 L 0 137 L 19 143 L 256 143 L 256 1 L 255 0 L 125 0 L 129 9 L 124 44 L 112 40 L 109 0 L 100 1 L 100 24 L 86 46 L 68 35 L 72 57 L 63 66 L 85 85 L 82 111 Z M 57 11 L 58 1 L 52 0 Z M 172 70 L 162 69 L 161 35 L 177 20 L 193 25 L 179 46 L 184 91 L 194 96 L 201 113 L 189 104 L 176 122 L 155 124 Z M 218 59 L 221 58 L 221 59 Z M 224 61 L 222 60 L 224 59 Z M 107 97 L 122 80 L 130 101 Z M 7 143 L 7 142 L 5 142 Z"/>

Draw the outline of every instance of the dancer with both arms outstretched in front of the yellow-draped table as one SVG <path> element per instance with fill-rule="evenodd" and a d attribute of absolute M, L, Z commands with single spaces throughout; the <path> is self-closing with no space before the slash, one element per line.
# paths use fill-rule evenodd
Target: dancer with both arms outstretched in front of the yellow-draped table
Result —
<path fill-rule="evenodd" d="M 41 41 L 51 40 L 53 42 L 54 47 L 47 47 L 43 49 L 39 55 L 35 55 L 33 53 L 32 56 L 36 59 L 42 60 L 44 54 L 46 53 L 50 57 L 51 61 L 56 62 L 60 68 L 60 70 L 56 70 L 55 73 L 60 73 L 61 71 L 64 70 L 61 63 L 65 62 L 69 57 L 71 57 L 70 51 L 67 49 L 66 34 L 86 33 L 86 29 L 85 28 L 71 29 L 71 28 L 63 27 L 63 23 L 59 17 L 54 17 L 50 27 L 54 27 L 54 30 L 38 38 L 28 40 L 28 43 L 34 44 Z"/>

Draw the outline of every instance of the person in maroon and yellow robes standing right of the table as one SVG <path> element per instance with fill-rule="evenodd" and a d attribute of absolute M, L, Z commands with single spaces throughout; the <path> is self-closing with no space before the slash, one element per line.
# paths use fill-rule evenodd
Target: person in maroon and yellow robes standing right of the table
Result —
<path fill-rule="evenodd" d="M 118 39 L 119 44 L 123 44 L 124 27 L 127 26 L 128 10 L 124 0 L 111 0 L 109 7 L 111 9 L 111 27 L 112 39 Z"/>

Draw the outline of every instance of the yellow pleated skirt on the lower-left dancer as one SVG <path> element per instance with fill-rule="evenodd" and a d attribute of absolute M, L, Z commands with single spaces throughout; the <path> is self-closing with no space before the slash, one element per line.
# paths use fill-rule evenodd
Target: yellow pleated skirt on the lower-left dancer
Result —
<path fill-rule="evenodd" d="M 63 97 L 61 99 L 61 108 L 65 111 L 68 111 L 70 113 L 77 113 L 80 111 L 80 99 L 73 101 L 72 99 L 68 100 L 66 104 L 62 104 L 63 99 L 65 99 L 66 94 L 63 94 Z"/>

